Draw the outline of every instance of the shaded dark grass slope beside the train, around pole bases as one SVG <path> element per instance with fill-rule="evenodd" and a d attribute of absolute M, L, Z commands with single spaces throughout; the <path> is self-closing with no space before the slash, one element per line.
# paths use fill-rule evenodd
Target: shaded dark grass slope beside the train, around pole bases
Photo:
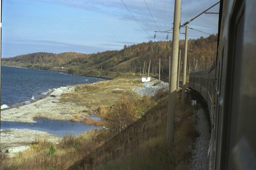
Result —
<path fill-rule="evenodd" d="M 157 94 L 160 101 L 153 109 L 152 114 L 146 117 L 151 119 L 156 115 L 165 115 L 167 112 L 166 94 Z M 155 97 L 157 99 L 157 97 Z M 148 170 L 187 170 L 189 169 L 189 161 L 192 152 L 192 142 L 198 136 L 197 131 L 193 127 L 193 122 L 189 119 L 192 115 L 193 107 L 186 104 L 185 111 L 180 108 L 180 93 L 177 94 L 176 118 L 180 121 L 175 123 L 175 139 L 172 147 L 166 145 L 166 119 L 158 119 L 154 124 L 148 126 L 156 127 L 148 133 L 157 133 L 149 139 L 142 141 L 138 148 L 132 151 L 131 156 L 122 155 L 121 158 L 114 161 L 101 162 L 100 167 L 96 165 L 95 169 L 148 169 Z M 150 116 L 151 115 L 151 116 Z M 139 127 L 136 127 L 139 128 Z M 132 128 L 131 128 L 132 130 Z M 124 135 L 122 135 L 124 136 Z M 140 136 L 150 136 L 150 134 L 137 134 Z M 145 137 L 144 137 L 145 138 Z M 114 144 L 119 147 L 119 144 Z M 133 147 L 130 148 L 131 150 Z"/>

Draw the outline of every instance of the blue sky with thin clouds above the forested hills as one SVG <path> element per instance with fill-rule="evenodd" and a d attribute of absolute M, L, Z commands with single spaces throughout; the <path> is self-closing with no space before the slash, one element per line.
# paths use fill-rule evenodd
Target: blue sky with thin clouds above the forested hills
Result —
<path fill-rule="evenodd" d="M 217 2 L 182 0 L 180 23 Z M 154 39 L 154 31 L 172 29 L 174 6 L 175 0 L 2 0 L 1 57 L 35 52 L 92 54 L 165 41 L 166 33 L 157 32 Z M 209 12 L 218 10 L 219 4 Z M 216 34 L 218 14 L 202 14 L 189 27 Z M 199 31 L 189 29 L 189 38 L 209 36 Z M 185 39 L 184 34 L 180 39 Z"/>

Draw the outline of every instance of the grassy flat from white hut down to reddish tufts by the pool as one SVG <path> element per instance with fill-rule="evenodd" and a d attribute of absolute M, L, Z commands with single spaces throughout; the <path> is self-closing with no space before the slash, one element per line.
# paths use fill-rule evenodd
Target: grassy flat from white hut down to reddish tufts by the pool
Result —
<path fill-rule="evenodd" d="M 101 118 L 110 111 L 127 89 L 141 87 L 139 77 L 116 78 L 101 81 L 93 84 L 76 85 L 76 90 L 72 93 L 62 94 L 61 102 L 75 102 L 77 105 L 86 106 L 88 113 L 95 113 Z M 81 114 L 73 116 L 71 121 L 80 121 L 90 125 L 103 125 L 94 119 L 87 119 Z"/>

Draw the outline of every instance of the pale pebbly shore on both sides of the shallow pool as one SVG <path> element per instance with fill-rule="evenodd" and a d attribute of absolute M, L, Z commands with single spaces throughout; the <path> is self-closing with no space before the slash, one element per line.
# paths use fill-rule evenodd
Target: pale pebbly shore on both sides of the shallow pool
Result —
<path fill-rule="evenodd" d="M 75 114 L 87 116 L 87 108 L 71 102 L 61 102 L 61 94 L 72 92 L 74 87 L 61 87 L 54 89 L 47 96 L 27 105 L 1 110 L 1 121 L 9 122 L 35 122 L 34 118 L 70 121 Z M 9 156 L 15 156 L 20 151 L 29 148 L 35 139 L 39 137 L 51 142 L 58 142 L 57 135 L 30 129 L 1 129 L 1 145 L 6 145 Z"/>

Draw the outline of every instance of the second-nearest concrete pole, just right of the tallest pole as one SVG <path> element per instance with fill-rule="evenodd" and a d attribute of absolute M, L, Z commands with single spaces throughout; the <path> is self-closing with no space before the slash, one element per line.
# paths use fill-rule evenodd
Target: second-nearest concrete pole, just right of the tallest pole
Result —
<path fill-rule="evenodd" d="M 189 29 L 189 26 L 186 25 L 183 79 L 182 79 L 182 91 L 181 91 L 181 106 L 183 109 L 184 109 L 184 103 L 185 103 L 186 58 L 187 58 L 187 51 L 188 51 L 188 29 Z"/>

